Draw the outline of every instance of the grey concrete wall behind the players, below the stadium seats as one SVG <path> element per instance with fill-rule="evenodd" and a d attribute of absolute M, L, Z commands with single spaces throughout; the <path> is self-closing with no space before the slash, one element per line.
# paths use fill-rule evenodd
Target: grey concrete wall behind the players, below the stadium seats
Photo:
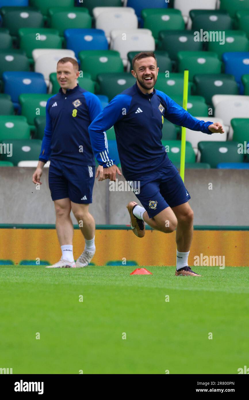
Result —
<path fill-rule="evenodd" d="M 0 168 L 0 224 L 55 223 L 48 168 L 44 168 L 40 190 L 32 183 L 34 170 Z M 135 195 L 111 192 L 108 185 L 109 180 L 95 181 L 90 212 L 96 224 L 129 224 L 125 206 L 136 200 Z M 249 225 L 249 170 L 186 170 L 185 186 L 191 195 L 195 225 Z M 72 220 L 77 223 L 74 216 Z"/>

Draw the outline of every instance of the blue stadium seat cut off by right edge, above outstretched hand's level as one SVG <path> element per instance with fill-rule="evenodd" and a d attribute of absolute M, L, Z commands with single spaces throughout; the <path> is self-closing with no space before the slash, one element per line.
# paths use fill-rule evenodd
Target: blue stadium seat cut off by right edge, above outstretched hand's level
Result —
<path fill-rule="evenodd" d="M 239 84 L 239 94 L 244 94 L 242 75 L 249 74 L 249 52 L 227 52 L 223 54 L 225 74 L 231 74 Z"/>

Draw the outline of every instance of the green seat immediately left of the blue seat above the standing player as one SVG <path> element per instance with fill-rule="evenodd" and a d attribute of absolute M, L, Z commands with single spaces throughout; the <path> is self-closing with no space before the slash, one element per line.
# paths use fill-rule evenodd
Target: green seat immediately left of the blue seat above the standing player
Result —
<path fill-rule="evenodd" d="M 59 36 L 57 29 L 21 28 L 18 33 L 20 37 L 20 48 L 26 52 L 30 62 L 33 61 L 32 50 L 36 48 L 62 48 L 63 38 Z M 38 34 L 40 36 L 38 36 Z"/>

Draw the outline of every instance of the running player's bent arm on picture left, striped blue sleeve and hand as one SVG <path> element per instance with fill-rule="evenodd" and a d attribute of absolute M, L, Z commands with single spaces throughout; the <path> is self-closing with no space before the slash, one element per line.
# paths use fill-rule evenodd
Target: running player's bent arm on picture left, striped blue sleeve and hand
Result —
<path fill-rule="evenodd" d="M 116 172 L 121 175 L 115 165 L 115 159 L 108 152 L 106 130 L 112 128 L 127 112 L 131 99 L 126 95 L 118 95 L 94 119 L 88 128 L 92 149 L 100 165 L 104 167 L 104 175 L 110 180 L 116 180 Z"/>

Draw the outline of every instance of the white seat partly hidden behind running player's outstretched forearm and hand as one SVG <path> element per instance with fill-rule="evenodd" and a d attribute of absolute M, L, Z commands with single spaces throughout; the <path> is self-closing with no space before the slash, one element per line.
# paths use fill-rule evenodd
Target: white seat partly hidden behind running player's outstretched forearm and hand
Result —
<path fill-rule="evenodd" d="M 211 121 L 211 122 L 220 122 L 223 125 L 223 120 L 220 118 L 214 117 L 196 117 L 201 121 Z M 207 135 L 206 133 L 191 130 L 186 128 L 186 140 L 192 144 L 193 149 L 197 149 L 199 142 L 225 142 L 227 140 L 227 132 L 225 133 L 213 133 L 212 135 Z M 196 152 L 196 150 L 195 150 Z"/>

